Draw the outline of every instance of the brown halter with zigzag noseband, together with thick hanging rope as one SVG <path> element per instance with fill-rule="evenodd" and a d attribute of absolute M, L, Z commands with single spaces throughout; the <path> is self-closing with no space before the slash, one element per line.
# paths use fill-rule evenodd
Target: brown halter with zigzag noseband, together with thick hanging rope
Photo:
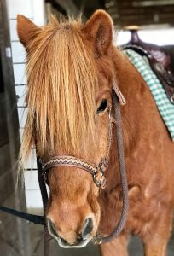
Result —
<path fill-rule="evenodd" d="M 106 179 L 104 177 L 104 172 L 108 166 L 108 160 L 109 160 L 109 152 L 110 152 L 110 146 L 112 142 L 112 127 L 113 123 L 116 125 L 116 143 L 118 148 L 118 160 L 119 160 L 119 172 L 120 172 L 120 181 L 121 181 L 121 187 L 122 187 L 122 194 L 123 194 L 123 207 L 121 216 L 119 218 L 119 223 L 113 230 L 111 234 L 108 236 L 101 236 L 100 234 L 97 234 L 93 239 L 92 242 L 95 244 L 101 244 L 106 243 L 109 241 L 112 241 L 113 238 L 119 235 L 121 230 L 123 230 L 128 214 L 128 208 L 129 208 L 129 201 L 128 201 L 128 184 L 127 184 L 127 178 L 126 178 L 126 170 L 125 170 L 125 154 L 124 154 L 124 145 L 123 145 L 123 131 L 122 131 L 122 125 L 121 125 L 121 113 L 119 108 L 119 103 L 121 105 L 125 105 L 125 98 L 121 94 L 117 84 L 113 84 L 113 108 L 115 112 L 116 120 L 113 119 L 111 116 L 111 108 L 108 108 L 108 115 L 109 115 L 109 129 L 108 129 L 108 141 L 107 141 L 107 154 L 104 160 L 101 160 L 101 162 L 96 166 L 94 164 L 91 164 L 88 161 L 81 160 L 72 156 L 55 156 L 52 157 L 49 161 L 45 162 L 44 165 L 42 165 L 42 160 L 38 159 L 38 166 L 42 165 L 42 174 L 41 177 L 44 177 L 44 183 L 40 183 L 42 185 L 41 191 L 43 192 L 42 195 L 45 199 L 44 201 L 44 207 L 46 207 L 46 202 L 48 201 L 48 195 L 45 183 L 47 183 L 47 174 L 49 172 L 49 169 L 54 166 L 76 166 L 81 169 L 84 169 L 87 172 L 90 172 L 92 174 L 94 182 L 97 186 L 104 188 L 106 184 Z M 40 177 L 40 178 L 41 178 Z M 43 189 L 44 187 L 44 189 Z M 44 210 L 45 212 L 45 210 Z M 47 252 L 46 245 L 48 244 L 47 240 L 47 227 L 45 224 L 45 252 Z M 48 255 L 48 253 L 46 254 Z"/>

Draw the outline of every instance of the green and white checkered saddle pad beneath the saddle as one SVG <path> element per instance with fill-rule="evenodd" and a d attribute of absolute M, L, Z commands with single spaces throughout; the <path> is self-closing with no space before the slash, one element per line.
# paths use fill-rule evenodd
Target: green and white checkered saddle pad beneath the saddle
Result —
<path fill-rule="evenodd" d="M 131 63 L 136 67 L 137 71 L 141 73 L 142 78 L 148 84 L 148 87 L 154 96 L 157 108 L 159 109 L 159 113 L 171 134 L 172 141 L 174 141 L 174 105 L 171 104 L 167 98 L 162 84 L 148 64 L 148 59 L 137 54 L 132 49 L 126 49 L 124 50 L 124 53 L 128 56 Z"/>

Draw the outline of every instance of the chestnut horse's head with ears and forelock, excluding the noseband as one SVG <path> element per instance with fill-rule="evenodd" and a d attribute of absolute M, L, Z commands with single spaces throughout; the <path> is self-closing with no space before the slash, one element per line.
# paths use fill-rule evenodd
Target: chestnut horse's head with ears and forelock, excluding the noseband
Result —
<path fill-rule="evenodd" d="M 84 26 L 53 17 L 39 28 L 19 15 L 18 34 L 28 79 L 21 159 L 36 145 L 44 162 L 67 155 L 97 166 L 107 157 L 115 77 L 111 18 L 99 10 Z M 74 165 L 51 166 L 48 184 L 49 233 L 61 247 L 84 247 L 100 223 L 99 187 Z"/>

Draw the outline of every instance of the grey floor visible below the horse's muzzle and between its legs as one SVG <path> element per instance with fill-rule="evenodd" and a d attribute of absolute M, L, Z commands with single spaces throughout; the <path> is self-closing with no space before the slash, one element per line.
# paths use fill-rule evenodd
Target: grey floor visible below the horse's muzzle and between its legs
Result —
<path fill-rule="evenodd" d="M 43 227 L 30 224 L 32 237 L 32 256 L 44 256 Z M 143 256 L 142 241 L 138 237 L 131 237 L 128 251 L 130 256 Z M 63 249 L 59 247 L 56 241 L 50 241 L 50 256 L 99 256 L 97 246 L 89 245 L 82 249 Z M 174 255 L 174 232 L 168 243 L 167 256 Z M 120 255 L 121 256 L 121 255 Z"/>

